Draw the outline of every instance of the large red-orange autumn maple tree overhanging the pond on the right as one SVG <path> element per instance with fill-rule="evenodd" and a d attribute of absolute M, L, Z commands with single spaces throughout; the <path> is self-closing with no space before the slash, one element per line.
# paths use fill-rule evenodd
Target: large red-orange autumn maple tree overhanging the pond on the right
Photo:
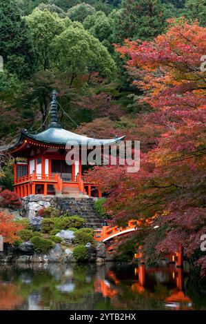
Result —
<path fill-rule="evenodd" d="M 152 124 L 164 131 L 156 132 L 155 145 L 141 152 L 139 172 L 105 166 L 88 175 L 109 193 L 106 207 L 113 221 L 156 216 L 156 230 L 145 224 L 144 235 L 134 234 L 139 236 L 136 242 L 143 246 L 146 261 L 176 252 L 182 244 L 185 256 L 202 267 L 202 274 L 206 261 L 200 251 L 200 236 L 206 232 L 206 72 L 201 58 L 205 48 L 206 28 L 185 19 L 169 21 L 169 30 L 154 41 L 116 45 L 134 85 L 144 94 L 140 102 L 150 105 L 151 112 L 141 117 L 144 127 Z"/>

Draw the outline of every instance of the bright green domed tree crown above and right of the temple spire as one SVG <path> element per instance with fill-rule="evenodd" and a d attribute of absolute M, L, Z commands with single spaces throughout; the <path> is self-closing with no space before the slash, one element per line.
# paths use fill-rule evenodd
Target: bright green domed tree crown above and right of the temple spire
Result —
<path fill-rule="evenodd" d="M 75 25 L 76 24 L 76 25 Z M 59 71 L 74 77 L 98 71 L 103 76 L 114 74 L 116 66 L 107 49 L 79 23 L 73 23 L 54 39 L 54 48 L 59 60 L 55 62 Z"/>

